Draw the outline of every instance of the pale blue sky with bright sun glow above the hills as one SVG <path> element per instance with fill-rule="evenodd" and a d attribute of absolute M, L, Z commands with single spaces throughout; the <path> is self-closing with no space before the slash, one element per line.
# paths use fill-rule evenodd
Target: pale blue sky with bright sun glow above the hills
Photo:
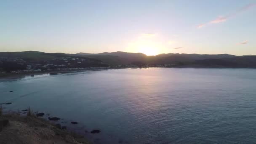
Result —
<path fill-rule="evenodd" d="M 0 0 L 0 51 L 256 55 L 256 0 Z"/>

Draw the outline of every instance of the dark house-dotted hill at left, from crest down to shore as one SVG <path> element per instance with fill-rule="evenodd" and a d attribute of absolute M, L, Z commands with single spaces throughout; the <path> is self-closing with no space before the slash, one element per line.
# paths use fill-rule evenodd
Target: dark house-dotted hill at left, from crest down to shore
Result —
<path fill-rule="evenodd" d="M 0 71 L 11 72 L 107 67 L 103 61 L 66 53 L 0 52 Z"/>

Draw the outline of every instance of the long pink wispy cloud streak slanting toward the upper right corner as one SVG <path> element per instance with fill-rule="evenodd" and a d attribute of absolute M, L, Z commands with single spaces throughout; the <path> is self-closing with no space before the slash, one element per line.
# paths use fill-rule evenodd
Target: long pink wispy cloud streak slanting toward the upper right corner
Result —
<path fill-rule="evenodd" d="M 205 24 L 200 24 L 197 26 L 197 28 L 202 28 L 202 27 L 205 27 L 206 25 L 208 24 L 219 24 L 221 22 L 224 22 L 224 21 L 227 21 L 228 19 L 232 18 L 232 17 L 235 17 L 237 14 L 239 13 L 242 13 L 243 11 L 247 11 L 249 10 L 250 8 L 253 8 L 256 6 L 256 3 L 251 3 L 251 4 L 248 4 L 248 5 L 245 5 L 244 7 L 240 8 L 239 10 L 235 11 L 234 13 L 230 13 L 229 15 L 227 16 L 219 16 L 217 17 L 216 19 L 213 19 L 212 21 L 209 21 Z"/>

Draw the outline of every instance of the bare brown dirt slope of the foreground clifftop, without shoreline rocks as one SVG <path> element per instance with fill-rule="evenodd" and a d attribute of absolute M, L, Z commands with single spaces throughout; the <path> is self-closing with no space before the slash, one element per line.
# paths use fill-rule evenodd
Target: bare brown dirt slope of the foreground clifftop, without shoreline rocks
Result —
<path fill-rule="evenodd" d="M 82 136 L 61 130 L 35 116 L 2 115 L 9 120 L 0 131 L 0 144 L 91 144 Z"/>

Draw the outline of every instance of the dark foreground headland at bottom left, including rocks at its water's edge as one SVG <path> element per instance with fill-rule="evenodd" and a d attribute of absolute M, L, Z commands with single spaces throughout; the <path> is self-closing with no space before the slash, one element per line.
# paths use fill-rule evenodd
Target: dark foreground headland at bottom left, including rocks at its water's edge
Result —
<path fill-rule="evenodd" d="M 45 118 L 47 116 L 48 118 Z M 30 108 L 17 112 L 3 112 L 0 107 L 0 144 L 93 144 L 82 133 L 68 128 L 59 117 L 50 117 Z M 71 121 L 70 125 L 78 122 Z M 100 133 L 92 130 L 91 134 Z M 84 131 L 88 133 L 88 131 Z"/>

